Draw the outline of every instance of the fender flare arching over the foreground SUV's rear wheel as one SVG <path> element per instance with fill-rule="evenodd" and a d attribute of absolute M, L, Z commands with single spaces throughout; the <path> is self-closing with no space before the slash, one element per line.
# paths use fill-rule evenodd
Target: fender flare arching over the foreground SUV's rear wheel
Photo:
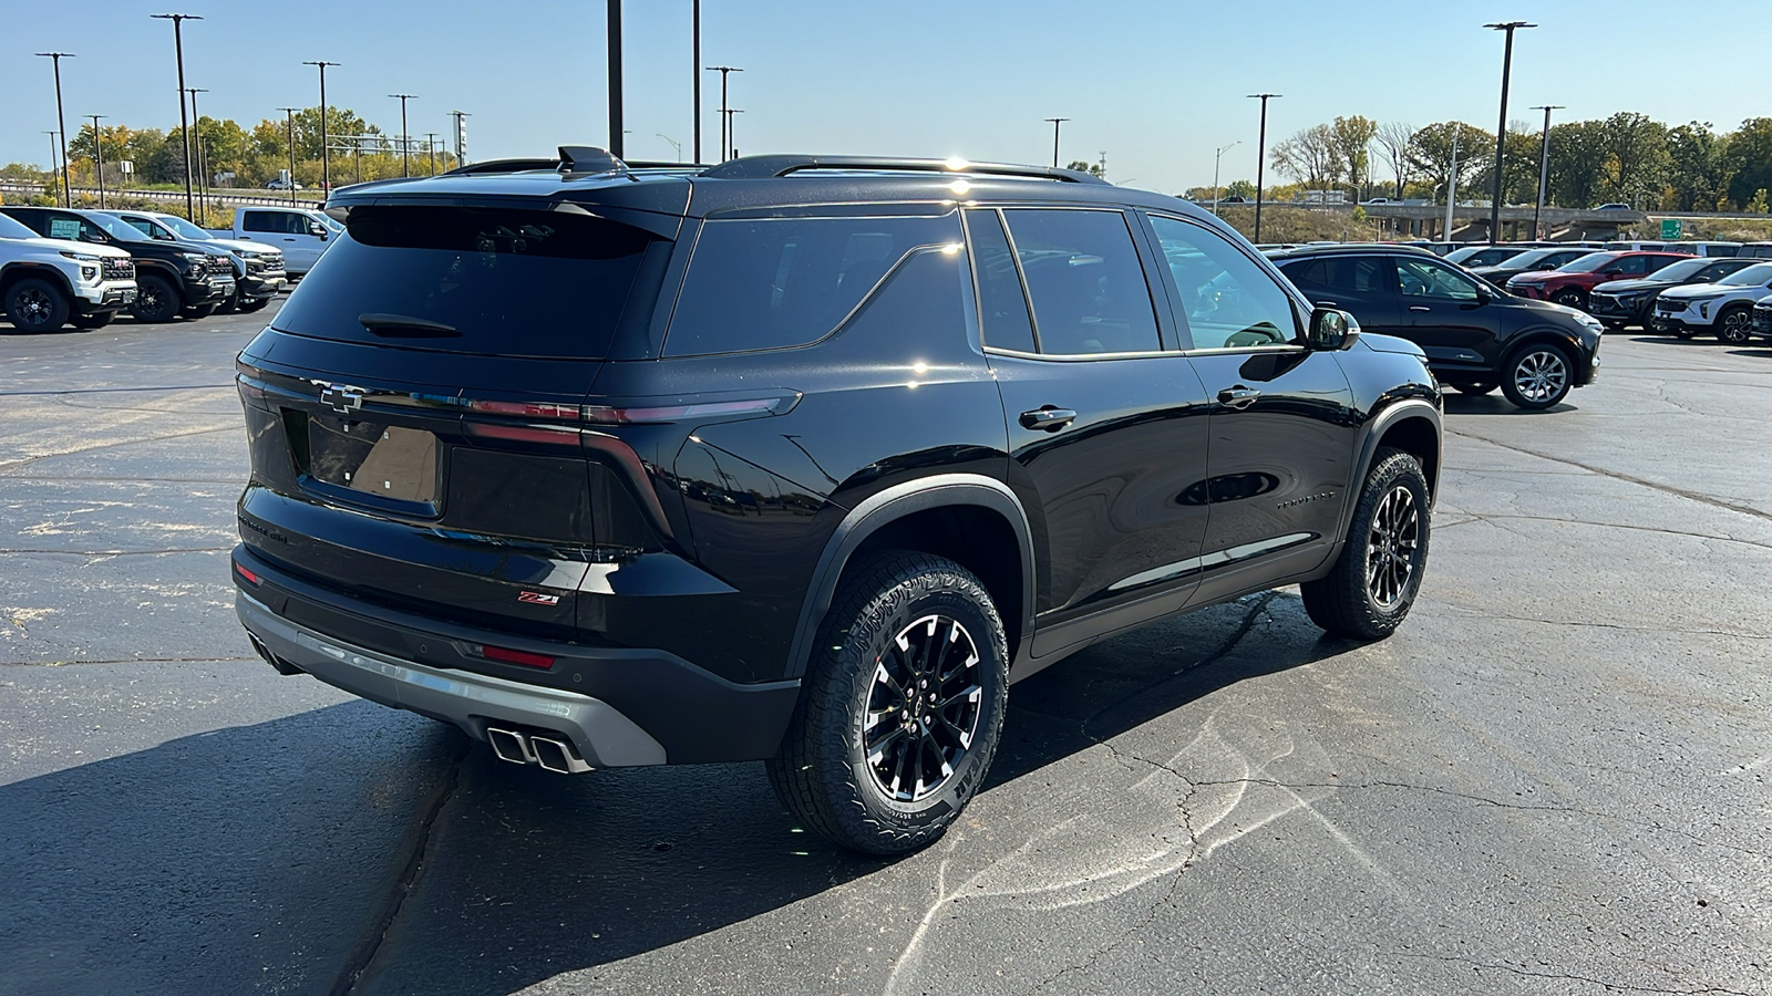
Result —
<path fill-rule="evenodd" d="M 1021 640 L 1024 645 L 1033 640 L 1033 595 L 1037 580 L 1033 576 L 1033 530 L 1028 525 L 1028 510 L 1001 480 L 976 473 L 937 473 L 895 484 L 870 494 L 836 525 L 836 532 L 824 544 L 819 565 L 812 572 L 812 585 L 806 588 L 806 597 L 801 603 L 799 624 L 794 627 L 794 643 L 789 647 L 787 673 L 783 677 L 797 679 L 804 675 L 819 624 L 824 622 L 824 613 L 831 610 L 836 583 L 842 580 L 843 569 L 856 549 L 881 526 L 916 512 L 952 505 L 976 505 L 1008 519 L 1010 530 L 1015 533 L 1015 544 L 1021 548 L 1022 604 L 1015 606 L 1015 611 L 1021 613 Z"/>

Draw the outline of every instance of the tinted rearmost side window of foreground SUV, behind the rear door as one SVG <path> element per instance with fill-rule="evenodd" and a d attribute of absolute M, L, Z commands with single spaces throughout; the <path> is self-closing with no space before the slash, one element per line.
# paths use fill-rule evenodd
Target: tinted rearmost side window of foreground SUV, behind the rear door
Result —
<path fill-rule="evenodd" d="M 817 342 L 913 250 L 959 243 L 959 214 L 709 222 L 695 243 L 664 354 Z"/>

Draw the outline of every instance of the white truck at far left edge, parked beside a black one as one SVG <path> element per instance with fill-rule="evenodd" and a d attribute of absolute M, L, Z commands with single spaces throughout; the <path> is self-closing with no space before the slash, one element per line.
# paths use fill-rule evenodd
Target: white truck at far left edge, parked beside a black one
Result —
<path fill-rule="evenodd" d="M 135 301 L 135 259 L 117 246 L 41 239 L 0 214 L 0 308 L 18 331 L 110 324 Z"/>

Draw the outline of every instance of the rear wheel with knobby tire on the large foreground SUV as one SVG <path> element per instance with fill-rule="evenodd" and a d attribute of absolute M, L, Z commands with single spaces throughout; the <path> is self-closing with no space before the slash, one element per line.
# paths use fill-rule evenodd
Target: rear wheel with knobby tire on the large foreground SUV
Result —
<path fill-rule="evenodd" d="M 810 829 L 868 854 L 936 842 L 996 755 L 1008 640 L 969 571 L 925 553 L 845 572 L 769 783 Z"/>

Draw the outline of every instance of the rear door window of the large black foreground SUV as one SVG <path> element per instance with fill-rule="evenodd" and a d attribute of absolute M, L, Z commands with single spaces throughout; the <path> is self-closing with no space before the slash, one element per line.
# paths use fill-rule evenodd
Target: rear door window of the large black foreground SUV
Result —
<path fill-rule="evenodd" d="M 1033 298 L 1040 353 L 1154 353 L 1157 310 L 1118 211 L 1005 211 Z"/>

